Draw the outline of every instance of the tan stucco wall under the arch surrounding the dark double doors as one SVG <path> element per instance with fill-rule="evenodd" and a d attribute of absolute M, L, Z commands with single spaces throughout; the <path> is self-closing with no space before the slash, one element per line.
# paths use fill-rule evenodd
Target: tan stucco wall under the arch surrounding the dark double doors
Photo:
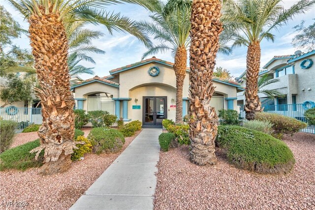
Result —
<path fill-rule="evenodd" d="M 170 109 L 172 105 L 172 99 L 174 99 L 173 105 L 176 100 L 176 89 L 165 85 L 147 85 L 138 87 L 129 92 L 128 102 L 128 118 L 132 120 L 139 120 L 142 122 L 143 112 L 143 96 L 166 96 L 167 97 L 167 118 L 175 120 L 175 110 Z M 141 109 L 132 109 L 132 105 L 136 105 L 134 100 L 138 99 L 137 105 L 141 105 Z M 165 109 L 166 110 L 166 109 Z"/>

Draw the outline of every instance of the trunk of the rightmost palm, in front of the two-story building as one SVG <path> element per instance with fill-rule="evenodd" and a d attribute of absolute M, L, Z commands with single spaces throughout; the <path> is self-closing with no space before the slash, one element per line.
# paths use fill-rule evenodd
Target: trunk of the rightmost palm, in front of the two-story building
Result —
<path fill-rule="evenodd" d="M 263 110 L 258 97 L 258 73 L 260 68 L 260 44 L 258 41 L 248 47 L 246 66 L 246 103 L 244 110 L 246 112 L 246 119 L 253 120 L 255 112 Z"/>

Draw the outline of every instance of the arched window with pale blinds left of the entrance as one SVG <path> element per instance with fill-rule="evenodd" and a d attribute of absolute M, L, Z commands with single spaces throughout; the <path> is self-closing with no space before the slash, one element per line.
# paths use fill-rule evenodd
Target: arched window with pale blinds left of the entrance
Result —
<path fill-rule="evenodd" d="M 114 114 L 113 95 L 109 93 L 94 93 L 88 95 L 88 111 L 103 110 Z"/>

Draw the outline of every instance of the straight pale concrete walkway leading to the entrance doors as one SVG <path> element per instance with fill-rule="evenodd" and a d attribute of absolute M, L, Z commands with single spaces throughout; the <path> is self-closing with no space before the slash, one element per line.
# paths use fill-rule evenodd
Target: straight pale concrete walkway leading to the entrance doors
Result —
<path fill-rule="evenodd" d="M 70 210 L 152 210 L 161 133 L 143 129 Z"/>

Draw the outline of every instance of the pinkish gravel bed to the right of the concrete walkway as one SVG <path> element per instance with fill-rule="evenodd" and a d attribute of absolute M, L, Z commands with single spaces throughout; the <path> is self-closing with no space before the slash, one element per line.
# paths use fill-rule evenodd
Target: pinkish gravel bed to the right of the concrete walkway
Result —
<path fill-rule="evenodd" d="M 155 209 L 315 209 L 315 135 L 297 133 L 284 142 L 296 160 L 288 175 L 250 173 L 221 157 L 216 166 L 196 166 L 188 146 L 161 152 Z"/>

